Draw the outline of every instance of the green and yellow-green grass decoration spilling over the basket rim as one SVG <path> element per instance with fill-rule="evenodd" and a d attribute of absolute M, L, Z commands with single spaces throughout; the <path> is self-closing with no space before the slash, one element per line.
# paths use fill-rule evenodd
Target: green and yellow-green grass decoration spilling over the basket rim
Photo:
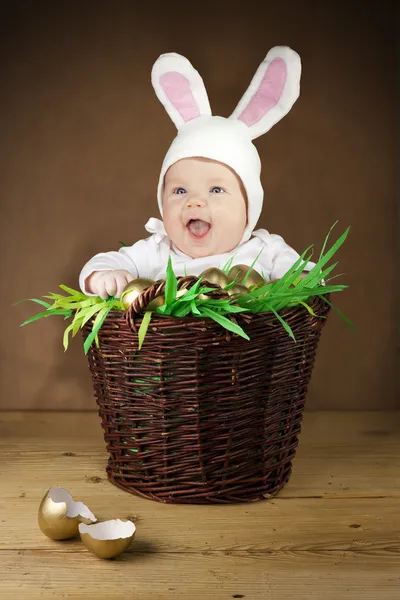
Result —
<path fill-rule="evenodd" d="M 318 262 L 316 263 L 315 267 L 313 267 L 304 277 L 300 277 L 300 275 L 303 273 L 307 263 L 311 260 L 312 246 L 307 248 L 307 250 L 305 250 L 299 256 L 295 264 L 281 279 L 272 283 L 266 282 L 262 287 L 252 286 L 248 294 L 239 296 L 236 299 L 200 299 L 200 294 L 206 294 L 212 289 L 204 286 L 202 278 L 200 278 L 183 296 L 177 298 L 176 294 L 178 282 L 172 268 L 171 257 L 169 257 L 166 269 L 165 303 L 163 306 L 157 307 L 154 312 L 156 314 L 168 315 L 176 318 L 182 318 L 188 315 L 210 318 L 225 329 L 240 335 L 246 340 L 249 340 L 248 335 L 238 324 L 233 323 L 228 318 L 229 315 L 241 312 L 272 313 L 284 327 L 288 335 L 295 340 L 292 329 L 280 314 L 281 311 L 294 306 L 303 306 L 304 309 L 307 310 L 313 317 L 316 317 L 318 315 L 316 315 L 309 306 L 309 301 L 313 297 L 320 297 L 330 307 L 335 309 L 342 319 L 354 329 L 354 326 L 349 319 L 326 299 L 327 294 L 340 292 L 347 288 L 346 285 L 332 285 L 330 283 L 332 279 L 338 277 L 338 275 L 327 279 L 338 264 L 335 262 L 332 265 L 327 266 L 327 263 L 343 245 L 350 230 L 350 228 L 347 228 L 346 231 L 339 237 L 339 239 L 332 245 L 332 247 L 326 251 L 329 236 L 336 224 L 337 223 L 330 228 L 328 235 L 325 238 Z M 126 244 L 123 242 L 120 243 L 126 246 Z M 257 262 L 262 251 L 263 249 L 261 249 L 260 253 L 253 261 L 252 266 L 249 267 L 243 282 L 246 281 L 251 269 Z M 236 254 L 227 261 L 224 267 L 222 267 L 221 270 L 225 274 L 228 274 L 229 270 L 232 268 L 235 256 Z M 324 280 L 325 285 L 320 283 L 321 280 Z M 231 288 L 233 285 L 235 285 L 236 281 L 237 278 L 235 278 L 235 281 L 230 283 L 225 289 L 228 290 Z M 110 297 L 107 298 L 107 300 L 103 300 L 99 296 L 87 296 L 86 294 L 69 288 L 66 285 L 60 285 L 59 287 L 61 290 L 66 292 L 67 295 L 49 293 L 47 296 L 44 296 L 44 298 L 46 298 L 46 300 L 50 300 L 50 302 L 38 298 L 28 298 L 19 300 L 13 304 L 13 306 L 15 306 L 21 302 L 30 300 L 46 309 L 24 321 L 21 324 L 21 327 L 27 325 L 28 323 L 33 323 L 41 318 L 53 315 L 63 316 L 65 320 L 72 318 L 72 322 L 65 329 L 63 335 L 63 346 L 64 350 L 66 351 L 69 345 L 70 334 L 72 337 L 74 337 L 90 319 L 94 318 L 92 331 L 84 341 L 84 352 L 87 354 L 93 342 L 97 347 L 99 347 L 98 333 L 109 312 L 111 310 L 124 311 L 125 308 L 118 298 Z M 138 332 L 139 350 L 143 346 L 143 342 L 153 314 L 154 313 L 151 311 L 146 311 L 142 318 L 142 323 Z"/>

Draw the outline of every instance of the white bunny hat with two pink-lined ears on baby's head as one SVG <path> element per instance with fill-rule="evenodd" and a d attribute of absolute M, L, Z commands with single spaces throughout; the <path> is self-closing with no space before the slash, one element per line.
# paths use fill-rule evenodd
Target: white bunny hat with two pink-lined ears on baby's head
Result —
<path fill-rule="evenodd" d="M 240 243 L 250 239 L 260 217 L 264 192 L 261 161 L 252 140 L 266 133 L 292 108 L 300 93 L 301 62 L 287 46 L 272 48 L 229 118 L 212 116 L 200 74 L 180 54 L 162 54 L 152 70 L 152 84 L 178 129 L 164 159 L 158 183 L 162 211 L 165 173 L 178 160 L 209 158 L 231 167 L 248 198 L 248 224 Z"/>

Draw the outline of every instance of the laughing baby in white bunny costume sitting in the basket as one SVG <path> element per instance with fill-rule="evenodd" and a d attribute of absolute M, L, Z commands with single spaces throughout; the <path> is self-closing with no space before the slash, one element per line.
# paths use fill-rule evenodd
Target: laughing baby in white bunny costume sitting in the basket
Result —
<path fill-rule="evenodd" d="M 282 237 L 254 230 L 263 189 L 252 140 L 285 116 L 299 96 L 301 64 L 288 47 L 270 50 L 229 117 L 212 116 L 203 80 L 178 54 L 156 61 L 152 82 L 178 135 L 164 159 L 158 183 L 163 221 L 151 218 L 149 237 L 118 252 L 99 253 L 83 267 L 79 285 L 88 295 L 120 297 L 136 277 L 163 279 L 169 257 L 177 276 L 208 267 L 250 266 L 279 279 L 299 255 Z M 314 263 L 308 263 L 309 270 Z"/>

